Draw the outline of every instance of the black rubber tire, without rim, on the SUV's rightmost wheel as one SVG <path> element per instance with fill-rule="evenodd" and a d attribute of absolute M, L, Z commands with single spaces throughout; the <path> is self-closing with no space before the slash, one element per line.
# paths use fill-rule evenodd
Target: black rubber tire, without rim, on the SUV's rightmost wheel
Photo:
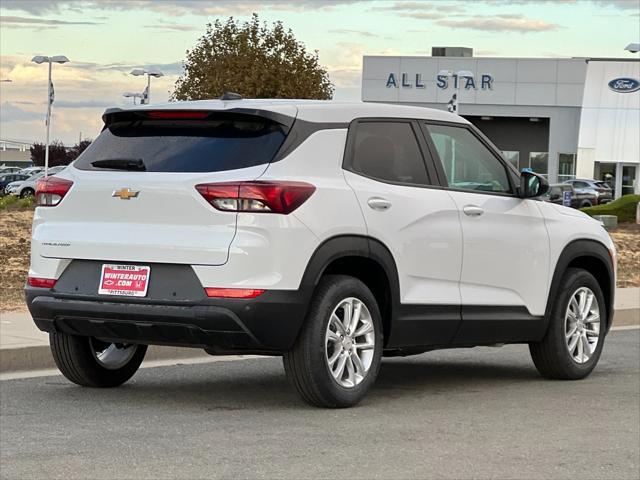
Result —
<path fill-rule="evenodd" d="M 600 335 L 589 360 L 577 363 L 567 348 L 565 338 L 565 314 L 573 294 L 580 287 L 588 287 L 595 294 L 600 309 Z M 550 299 L 551 300 L 551 299 Z M 538 372 L 544 377 L 561 380 L 578 380 L 589 375 L 600 358 L 606 332 L 607 311 L 604 296 L 597 280 L 586 270 L 569 268 L 564 273 L 549 318 L 549 327 L 542 341 L 530 343 L 529 351 Z"/>

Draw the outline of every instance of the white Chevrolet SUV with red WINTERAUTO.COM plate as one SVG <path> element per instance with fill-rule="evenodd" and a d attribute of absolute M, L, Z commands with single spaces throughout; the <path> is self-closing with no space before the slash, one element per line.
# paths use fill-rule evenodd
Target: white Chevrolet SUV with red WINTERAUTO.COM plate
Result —
<path fill-rule="evenodd" d="M 103 119 L 36 194 L 27 302 L 72 382 L 120 385 L 147 345 L 180 345 L 281 355 L 307 402 L 344 407 L 383 355 L 527 343 L 566 379 L 598 361 L 609 235 L 461 117 L 221 100 Z"/>

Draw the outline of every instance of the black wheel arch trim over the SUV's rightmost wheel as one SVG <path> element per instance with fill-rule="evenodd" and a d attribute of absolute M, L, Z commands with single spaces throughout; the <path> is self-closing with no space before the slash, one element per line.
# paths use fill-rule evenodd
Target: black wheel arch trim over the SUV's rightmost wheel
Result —
<path fill-rule="evenodd" d="M 569 242 L 560 253 L 558 257 L 558 261 L 556 262 L 555 270 L 553 272 L 553 278 L 551 280 L 551 285 L 549 287 L 549 293 L 547 296 L 547 308 L 545 310 L 545 331 L 549 325 L 551 310 L 553 309 L 555 303 L 554 292 L 558 290 L 558 286 L 560 285 L 560 280 L 562 280 L 562 276 L 566 272 L 567 268 L 571 262 L 578 258 L 594 258 L 602 263 L 606 270 L 607 276 L 606 279 L 608 282 L 609 288 L 602 288 L 602 294 L 604 295 L 606 308 L 607 308 L 607 332 L 611 328 L 611 324 L 613 323 L 613 313 L 614 313 L 614 300 L 615 300 L 615 274 L 613 261 L 611 259 L 611 255 L 609 253 L 609 249 L 602 243 L 596 240 L 588 240 L 588 239 L 577 239 Z M 596 275 L 596 280 L 604 287 L 602 279 L 598 278 Z M 608 290 L 608 291 L 607 291 Z"/>

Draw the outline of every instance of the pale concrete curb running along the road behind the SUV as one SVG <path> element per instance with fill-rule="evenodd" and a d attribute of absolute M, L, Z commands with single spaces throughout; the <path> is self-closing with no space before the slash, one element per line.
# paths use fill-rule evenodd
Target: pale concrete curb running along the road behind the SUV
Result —
<path fill-rule="evenodd" d="M 614 327 L 640 325 L 640 308 L 616 310 Z M 199 348 L 161 347 L 152 345 L 147 351 L 145 362 L 149 360 L 183 360 L 210 358 Z M 56 368 L 49 345 L 23 346 L 0 349 L 0 373 Z"/>

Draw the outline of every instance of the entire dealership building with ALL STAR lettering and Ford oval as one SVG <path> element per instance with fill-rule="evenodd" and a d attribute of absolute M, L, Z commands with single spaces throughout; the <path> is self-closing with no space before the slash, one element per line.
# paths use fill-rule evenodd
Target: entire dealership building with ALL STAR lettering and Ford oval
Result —
<path fill-rule="evenodd" d="M 460 74 L 458 78 L 458 73 Z M 640 193 L 640 59 L 365 56 L 362 100 L 447 109 L 476 125 L 518 169 L 551 183 L 605 180 Z"/>

